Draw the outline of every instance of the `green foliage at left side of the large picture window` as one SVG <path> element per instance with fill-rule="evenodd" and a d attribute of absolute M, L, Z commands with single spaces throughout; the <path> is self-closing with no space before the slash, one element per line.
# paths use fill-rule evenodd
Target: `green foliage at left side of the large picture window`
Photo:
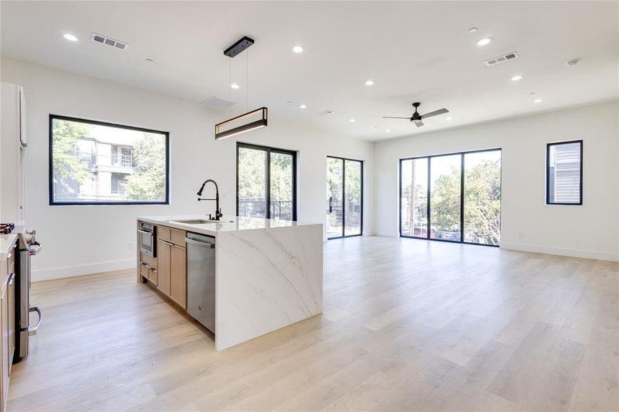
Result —
<path fill-rule="evenodd" d="M 78 139 L 89 135 L 91 125 L 68 120 L 54 119 L 52 124 L 54 161 L 54 183 L 65 186 L 65 191 L 72 192 L 66 182 L 84 183 L 89 176 L 88 162 L 81 161 L 78 152 Z"/>

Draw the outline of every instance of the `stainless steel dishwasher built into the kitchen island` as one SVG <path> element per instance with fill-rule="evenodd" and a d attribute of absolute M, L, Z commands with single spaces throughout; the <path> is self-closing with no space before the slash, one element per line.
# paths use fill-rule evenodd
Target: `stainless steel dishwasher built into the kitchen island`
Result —
<path fill-rule="evenodd" d="M 187 312 L 215 333 L 215 238 L 187 233 Z"/>

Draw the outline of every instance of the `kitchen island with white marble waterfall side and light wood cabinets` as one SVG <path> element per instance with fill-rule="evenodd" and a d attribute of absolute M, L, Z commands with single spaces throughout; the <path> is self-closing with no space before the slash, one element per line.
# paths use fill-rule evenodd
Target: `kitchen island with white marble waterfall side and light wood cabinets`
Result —
<path fill-rule="evenodd" d="M 153 257 L 138 248 L 138 282 L 152 283 L 199 321 L 192 314 L 192 299 L 203 295 L 205 286 L 201 279 L 196 282 L 196 270 L 203 271 L 202 277 L 207 269 L 195 264 L 189 268 L 194 259 L 191 247 L 194 238 L 212 242 L 214 325 L 201 323 L 214 333 L 218 351 L 322 312 L 322 224 L 238 216 L 220 221 L 204 215 L 144 216 L 137 218 L 138 244 L 142 222 L 157 228 L 152 236 L 161 251 L 155 249 Z M 172 262 L 176 272 L 174 267 L 164 269 L 170 265 L 168 244 L 180 256 L 177 260 L 184 253 L 183 264 Z M 175 287 L 183 280 L 184 286 Z M 211 305 L 210 299 L 202 299 L 201 310 Z"/>

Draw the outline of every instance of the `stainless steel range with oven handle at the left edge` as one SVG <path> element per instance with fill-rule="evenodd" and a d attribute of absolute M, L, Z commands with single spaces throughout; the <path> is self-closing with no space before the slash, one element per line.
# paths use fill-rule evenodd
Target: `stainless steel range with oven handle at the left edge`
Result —
<path fill-rule="evenodd" d="M 41 309 L 38 306 L 30 306 L 30 258 L 41 251 L 41 244 L 35 239 L 35 232 L 23 229 L 19 235 L 19 275 L 16 277 L 15 294 L 15 322 L 19 336 L 15 339 L 14 362 L 19 361 L 28 354 L 28 336 L 36 334 L 41 325 Z M 18 262 L 16 262 L 18 264 Z M 16 266 L 17 267 L 17 266 Z M 30 325 L 30 312 L 38 314 L 38 320 L 34 326 Z"/>

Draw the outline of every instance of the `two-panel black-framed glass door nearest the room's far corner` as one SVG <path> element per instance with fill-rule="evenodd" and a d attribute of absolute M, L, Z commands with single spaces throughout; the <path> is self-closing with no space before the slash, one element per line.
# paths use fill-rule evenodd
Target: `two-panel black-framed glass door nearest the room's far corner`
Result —
<path fill-rule="evenodd" d="M 327 156 L 326 232 L 329 239 L 363 234 L 363 161 Z"/>

